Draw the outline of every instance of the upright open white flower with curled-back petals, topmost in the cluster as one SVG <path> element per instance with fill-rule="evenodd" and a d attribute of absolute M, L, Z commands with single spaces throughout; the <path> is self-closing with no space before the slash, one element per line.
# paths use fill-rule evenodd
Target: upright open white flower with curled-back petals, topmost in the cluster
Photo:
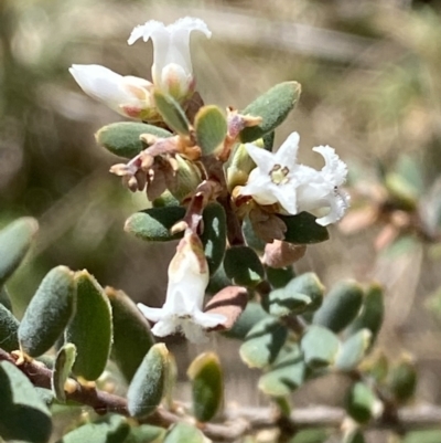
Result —
<path fill-rule="evenodd" d="M 201 31 L 208 39 L 212 33 L 201 19 L 185 17 L 168 27 L 150 20 L 133 29 L 128 40 L 133 44 L 138 39 L 153 41 L 152 77 L 154 85 L 175 99 L 185 99 L 194 91 L 192 60 L 190 56 L 190 33 Z"/>

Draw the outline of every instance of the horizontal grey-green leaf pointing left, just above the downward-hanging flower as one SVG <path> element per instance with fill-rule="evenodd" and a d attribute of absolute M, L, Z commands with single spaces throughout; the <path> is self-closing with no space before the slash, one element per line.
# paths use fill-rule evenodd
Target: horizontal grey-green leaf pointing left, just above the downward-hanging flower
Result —
<path fill-rule="evenodd" d="M 125 231 L 150 242 L 168 242 L 181 239 L 183 232 L 172 234 L 172 226 L 185 215 L 182 207 L 150 208 L 127 219 Z"/>

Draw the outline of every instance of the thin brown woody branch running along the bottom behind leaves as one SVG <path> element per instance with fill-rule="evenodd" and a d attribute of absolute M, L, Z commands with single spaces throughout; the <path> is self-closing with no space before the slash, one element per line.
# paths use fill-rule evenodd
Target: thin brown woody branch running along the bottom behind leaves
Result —
<path fill-rule="evenodd" d="M 42 363 L 33 360 L 17 365 L 18 357 L 0 349 L 0 361 L 9 361 L 18 367 L 35 387 L 51 389 L 52 371 Z M 129 416 L 127 400 L 96 388 L 84 387 L 78 382 L 74 392 L 66 392 L 67 400 L 74 400 L 84 405 L 93 408 L 97 413 L 117 412 Z M 181 409 L 181 408 L 180 408 Z M 185 410 L 185 408 L 182 408 Z M 340 428 L 346 412 L 342 408 L 311 407 L 294 409 L 289 422 L 295 429 L 304 428 Z M 178 421 L 191 421 L 185 414 L 176 414 L 159 407 L 157 411 L 142 420 L 149 423 L 168 428 Z M 259 429 L 277 428 L 280 414 L 273 408 L 233 408 L 229 407 L 224 413 L 223 423 L 200 423 L 198 428 L 204 434 L 216 441 L 232 442 L 248 432 Z M 383 429 L 394 431 L 410 431 L 415 429 L 440 426 L 441 407 L 434 404 L 422 404 L 411 408 L 400 408 L 397 411 L 397 420 L 381 416 L 369 423 L 369 429 Z"/>

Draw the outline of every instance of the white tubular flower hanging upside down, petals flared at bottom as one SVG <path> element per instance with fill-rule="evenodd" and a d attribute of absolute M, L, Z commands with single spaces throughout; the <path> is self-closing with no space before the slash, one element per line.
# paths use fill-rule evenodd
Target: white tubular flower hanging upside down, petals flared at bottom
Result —
<path fill-rule="evenodd" d="M 208 264 L 201 240 L 195 234 L 185 234 L 170 262 L 169 285 L 162 308 L 138 304 L 141 313 L 157 323 L 152 333 L 165 337 L 182 331 L 190 341 L 206 341 L 205 329 L 226 320 L 223 315 L 202 310 L 208 279 Z"/>

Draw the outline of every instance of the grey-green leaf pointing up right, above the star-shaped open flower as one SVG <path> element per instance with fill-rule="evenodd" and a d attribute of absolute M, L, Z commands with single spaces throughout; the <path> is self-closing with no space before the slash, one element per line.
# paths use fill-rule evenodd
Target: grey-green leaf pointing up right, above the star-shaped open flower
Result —
<path fill-rule="evenodd" d="M 250 103 L 240 114 L 261 117 L 262 122 L 243 129 L 240 141 L 257 140 L 281 125 L 299 101 L 300 92 L 301 86 L 297 82 L 279 83 Z"/>

